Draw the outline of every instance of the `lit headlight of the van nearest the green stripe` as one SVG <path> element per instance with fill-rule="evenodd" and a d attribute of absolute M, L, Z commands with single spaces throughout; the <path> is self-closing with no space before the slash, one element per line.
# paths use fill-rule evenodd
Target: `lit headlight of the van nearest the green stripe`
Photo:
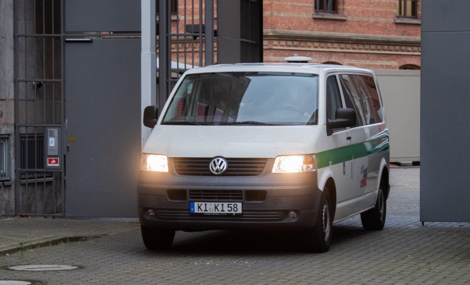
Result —
<path fill-rule="evenodd" d="M 314 155 L 285 155 L 278 156 L 273 166 L 273 173 L 298 173 L 317 170 Z"/>

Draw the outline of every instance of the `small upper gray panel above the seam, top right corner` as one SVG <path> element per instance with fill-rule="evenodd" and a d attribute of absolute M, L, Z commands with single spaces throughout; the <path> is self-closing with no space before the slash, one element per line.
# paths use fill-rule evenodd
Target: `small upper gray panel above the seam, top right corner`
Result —
<path fill-rule="evenodd" d="M 469 0 L 423 0 L 421 12 L 422 32 L 469 30 Z"/>

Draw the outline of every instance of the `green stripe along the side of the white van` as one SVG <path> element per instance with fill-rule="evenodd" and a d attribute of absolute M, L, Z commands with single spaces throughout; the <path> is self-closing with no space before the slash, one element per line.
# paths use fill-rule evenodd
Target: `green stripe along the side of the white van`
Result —
<path fill-rule="evenodd" d="M 322 151 L 316 154 L 317 167 L 323 168 L 331 165 L 343 163 L 354 159 L 379 153 L 390 148 L 388 137 L 378 138 L 363 143 L 357 143 L 335 149 Z"/>

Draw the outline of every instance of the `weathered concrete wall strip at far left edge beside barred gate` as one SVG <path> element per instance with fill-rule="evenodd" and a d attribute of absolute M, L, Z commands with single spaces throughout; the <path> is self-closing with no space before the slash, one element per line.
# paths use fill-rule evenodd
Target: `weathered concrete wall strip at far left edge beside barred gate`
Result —
<path fill-rule="evenodd" d="M 10 139 L 10 172 L 14 181 L 14 50 L 13 1 L 0 1 L 0 135 Z M 0 218 L 14 214 L 15 190 L 11 181 L 0 182 Z"/>

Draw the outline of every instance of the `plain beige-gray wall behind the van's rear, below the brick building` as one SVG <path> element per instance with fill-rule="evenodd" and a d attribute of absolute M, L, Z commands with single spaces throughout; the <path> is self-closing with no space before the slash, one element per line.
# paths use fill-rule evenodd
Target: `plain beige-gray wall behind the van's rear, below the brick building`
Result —
<path fill-rule="evenodd" d="M 420 161 L 420 70 L 375 70 L 390 132 L 390 162 Z"/>

